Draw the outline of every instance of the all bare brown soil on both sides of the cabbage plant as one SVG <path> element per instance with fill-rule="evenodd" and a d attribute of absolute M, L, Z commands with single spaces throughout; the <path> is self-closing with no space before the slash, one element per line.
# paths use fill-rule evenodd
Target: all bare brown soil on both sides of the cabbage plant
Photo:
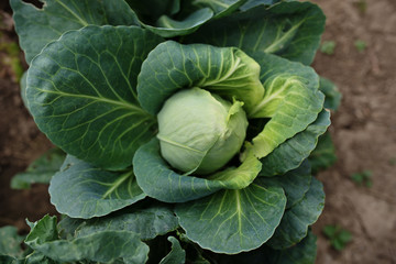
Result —
<path fill-rule="evenodd" d="M 326 207 L 314 227 L 318 264 L 396 263 L 396 1 L 314 0 L 327 15 L 323 41 L 334 41 L 332 55 L 318 53 L 314 67 L 333 80 L 343 95 L 332 116 L 330 132 L 338 162 L 319 174 Z M 11 29 L 0 29 L 1 41 L 15 41 Z M 359 52 L 356 41 L 366 48 Z M 46 186 L 10 190 L 12 175 L 52 147 L 36 129 L 20 98 L 14 76 L 3 70 L 0 52 L 0 226 L 26 231 L 24 219 L 54 213 Z M 373 186 L 359 186 L 351 176 L 372 172 Z M 353 240 L 333 250 L 321 230 L 339 224 Z"/>

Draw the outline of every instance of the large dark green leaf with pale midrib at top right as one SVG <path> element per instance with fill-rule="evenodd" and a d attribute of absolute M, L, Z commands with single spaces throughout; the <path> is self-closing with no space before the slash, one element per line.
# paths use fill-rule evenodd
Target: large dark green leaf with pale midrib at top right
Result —
<path fill-rule="evenodd" d="M 320 8 L 310 2 L 280 2 L 207 23 L 184 40 L 235 46 L 250 56 L 255 52 L 276 54 L 309 65 L 319 47 L 324 19 Z"/>

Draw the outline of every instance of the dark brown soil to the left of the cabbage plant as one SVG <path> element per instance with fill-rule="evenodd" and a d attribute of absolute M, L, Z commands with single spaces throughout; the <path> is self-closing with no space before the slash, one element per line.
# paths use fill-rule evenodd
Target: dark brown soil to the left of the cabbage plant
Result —
<path fill-rule="evenodd" d="M 11 21 L 11 22 L 10 22 Z M 12 20 L 0 9 L 0 44 L 14 43 Z M 4 46 L 3 45 L 3 46 Z M 3 47 L 2 46 L 2 47 Z M 21 64 L 26 65 L 21 54 Z M 25 223 L 36 221 L 46 213 L 55 213 L 50 204 L 47 186 L 33 185 L 30 190 L 11 190 L 10 179 L 38 157 L 52 145 L 36 128 L 26 111 L 16 84 L 15 75 L 9 66 L 10 55 L 0 50 L 0 227 L 16 226 L 28 232 Z"/>

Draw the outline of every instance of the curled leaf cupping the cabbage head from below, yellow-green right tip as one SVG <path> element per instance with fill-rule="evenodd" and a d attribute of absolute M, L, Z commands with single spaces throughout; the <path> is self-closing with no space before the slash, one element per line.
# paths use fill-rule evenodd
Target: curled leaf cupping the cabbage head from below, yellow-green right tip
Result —
<path fill-rule="evenodd" d="M 239 167 L 212 174 L 208 178 L 184 176 L 174 172 L 160 153 L 158 140 L 141 146 L 133 157 L 133 169 L 143 191 L 165 202 L 184 202 L 198 199 L 220 189 L 242 189 L 249 186 L 261 170 L 253 155 Z"/>

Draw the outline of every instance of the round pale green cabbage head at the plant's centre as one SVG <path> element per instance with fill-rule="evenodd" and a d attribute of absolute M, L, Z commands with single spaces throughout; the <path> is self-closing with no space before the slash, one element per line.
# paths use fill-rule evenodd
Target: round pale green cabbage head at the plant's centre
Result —
<path fill-rule="evenodd" d="M 244 142 L 248 119 L 242 105 L 200 88 L 175 94 L 158 113 L 163 157 L 186 174 L 218 170 Z"/>

